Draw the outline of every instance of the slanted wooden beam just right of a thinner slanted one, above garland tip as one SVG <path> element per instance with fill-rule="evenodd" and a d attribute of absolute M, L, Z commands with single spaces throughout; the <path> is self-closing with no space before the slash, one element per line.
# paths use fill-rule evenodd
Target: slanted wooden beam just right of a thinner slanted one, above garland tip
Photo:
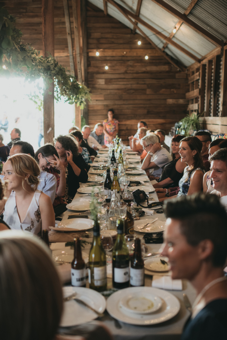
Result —
<path fill-rule="evenodd" d="M 76 61 L 77 61 L 77 75 L 79 83 L 82 83 L 82 69 L 81 69 L 81 59 L 80 59 L 80 28 L 78 27 L 78 14 L 77 14 L 77 4 L 76 0 L 72 0 L 72 16 L 74 23 L 74 42 L 76 51 Z"/>

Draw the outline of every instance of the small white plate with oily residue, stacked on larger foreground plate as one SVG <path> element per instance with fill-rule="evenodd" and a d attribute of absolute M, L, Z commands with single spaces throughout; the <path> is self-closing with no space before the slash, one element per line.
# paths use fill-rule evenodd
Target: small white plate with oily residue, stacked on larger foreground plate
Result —
<path fill-rule="evenodd" d="M 120 305 L 131 313 L 149 314 L 162 307 L 162 300 L 151 293 L 137 292 L 124 296 L 120 300 Z"/>

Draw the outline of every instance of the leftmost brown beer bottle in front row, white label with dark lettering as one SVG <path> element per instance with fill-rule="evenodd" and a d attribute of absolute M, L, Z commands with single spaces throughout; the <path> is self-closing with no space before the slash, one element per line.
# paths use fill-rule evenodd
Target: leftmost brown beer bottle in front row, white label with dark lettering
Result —
<path fill-rule="evenodd" d="M 79 237 L 74 239 L 74 259 L 71 263 L 72 286 L 86 287 L 86 268 L 82 258 Z"/>

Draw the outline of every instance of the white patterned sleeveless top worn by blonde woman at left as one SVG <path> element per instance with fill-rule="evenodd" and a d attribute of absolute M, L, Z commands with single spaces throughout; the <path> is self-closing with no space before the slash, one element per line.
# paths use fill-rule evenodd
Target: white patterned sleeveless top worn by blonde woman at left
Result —
<path fill-rule="evenodd" d="M 42 235 L 42 221 L 39 211 L 39 197 L 41 191 L 34 192 L 34 196 L 26 213 L 25 219 L 20 222 L 17 207 L 16 194 L 11 192 L 10 197 L 5 203 L 5 210 L 3 213 L 3 220 L 10 226 L 11 229 L 24 230 L 31 232 L 39 237 Z"/>

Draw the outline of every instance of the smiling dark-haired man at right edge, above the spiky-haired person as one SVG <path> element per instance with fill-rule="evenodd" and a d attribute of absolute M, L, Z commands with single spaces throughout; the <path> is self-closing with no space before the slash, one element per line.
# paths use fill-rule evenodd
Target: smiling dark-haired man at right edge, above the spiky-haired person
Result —
<path fill-rule="evenodd" d="M 220 197 L 220 201 L 227 211 L 227 148 L 217 150 L 209 160 L 212 170 L 210 176 L 214 188 L 210 193 Z"/>

